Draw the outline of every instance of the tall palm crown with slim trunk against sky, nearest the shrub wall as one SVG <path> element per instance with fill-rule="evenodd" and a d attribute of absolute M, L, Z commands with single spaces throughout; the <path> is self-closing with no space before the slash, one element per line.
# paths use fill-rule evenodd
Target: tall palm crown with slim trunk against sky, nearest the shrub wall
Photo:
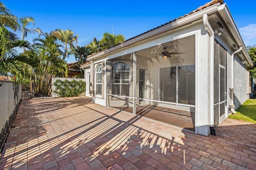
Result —
<path fill-rule="evenodd" d="M 74 36 L 74 32 L 69 29 L 66 31 L 56 29 L 55 31 L 52 31 L 50 35 L 57 37 L 64 44 L 64 54 L 62 59 L 65 59 L 68 55 L 68 45 L 70 50 L 72 50 L 74 48 L 74 43 L 77 43 L 78 35 Z"/>

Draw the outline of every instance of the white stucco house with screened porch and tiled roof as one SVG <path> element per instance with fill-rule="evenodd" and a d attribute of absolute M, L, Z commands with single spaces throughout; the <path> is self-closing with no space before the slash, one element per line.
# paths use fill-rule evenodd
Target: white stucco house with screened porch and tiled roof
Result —
<path fill-rule="evenodd" d="M 86 96 L 96 104 L 202 135 L 252 93 L 253 64 L 223 0 L 87 60 Z"/>

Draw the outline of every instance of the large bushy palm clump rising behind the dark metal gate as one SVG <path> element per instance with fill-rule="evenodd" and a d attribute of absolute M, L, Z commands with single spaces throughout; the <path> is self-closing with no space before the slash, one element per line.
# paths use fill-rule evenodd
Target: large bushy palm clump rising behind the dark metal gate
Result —
<path fill-rule="evenodd" d="M 43 38 L 35 38 L 34 50 L 26 51 L 29 56 L 34 56 L 38 61 L 38 67 L 33 68 L 32 80 L 35 83 L 33 89 L 36 94 L 51 93 L 52 77 L 62 77 L 62 72 L 68 76 L 66 61 L 61 59 L 63 55 L 56 37 L 48 33 L 42 34 Z"/>

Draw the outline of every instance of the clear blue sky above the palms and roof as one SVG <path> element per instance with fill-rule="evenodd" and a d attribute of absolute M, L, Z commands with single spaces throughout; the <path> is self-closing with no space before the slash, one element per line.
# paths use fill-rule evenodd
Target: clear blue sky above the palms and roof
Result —
<path fill-rule="evenodd" d="M 84 46 L 104 32 L 126 39 L 188 14 L 210 0 L 1 0 L 12 14 L 35 18 L 43 32 L 70 29 Z M 246 46 L 256 44 L 256 1 L 224 0 Z M 31 27 L 33 27 L 31 25 Z M 20 33 L 17 33 L 21 37 Z M 26 40 L 38 35 L 28 35 Z M 68 63 L 75 59 L 66 59 Z"/>

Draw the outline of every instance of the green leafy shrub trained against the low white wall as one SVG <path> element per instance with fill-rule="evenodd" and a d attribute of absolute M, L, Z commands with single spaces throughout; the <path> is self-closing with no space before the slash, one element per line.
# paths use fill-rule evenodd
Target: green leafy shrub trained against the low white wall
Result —
<path fill-rule="evenodd" d="M 54 93 L 58 94 L 60 97 L 74 97 L 79 96 L 80 94 L 85 92 L 85 82 L 80 80 L 56 80 L 53 83 L 55 86 Z"/>

